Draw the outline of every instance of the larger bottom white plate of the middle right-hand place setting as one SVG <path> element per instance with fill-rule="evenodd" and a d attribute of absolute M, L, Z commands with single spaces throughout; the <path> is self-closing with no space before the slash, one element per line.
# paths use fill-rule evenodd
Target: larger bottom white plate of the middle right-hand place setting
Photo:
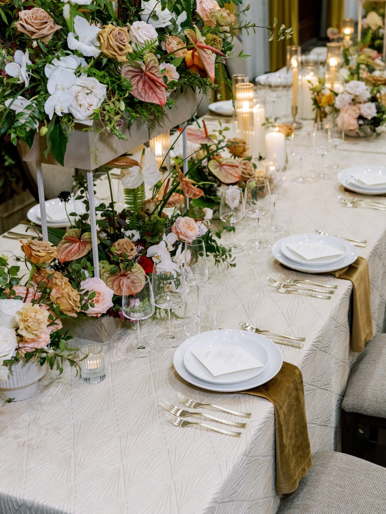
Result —
<path fill-rule="evenodd" d="M 339 261 L 336 261 L 331 264 L 315 266 L 312 264 L 296 263 L 291 259 L 288 259 L 288 257 L 286 257 L 283 254 L 281 247 L 283 244 L 286 243 L 297 243 L 300 237 L 307 237 L 308 241 L 311 243 L 326 243 L 331 246 L 332 244 L 334 244 L 334 241 L 332 240 L 338 240 L 341 244 L 345 246 L 346 254 L 343 257 L 343 259 L 339 259 Z M 353 262 L 356 261 L 358 257 L 358 250 L 353 244 L 349 243 L 344 239 L 341 239 L 340 237 L 322 234 L 295 234 L 290 235 L 288 237 L 283 237 L 282 239 L 276 241 L 276 243 L 272 246 L 272 253 L 274 258 L 280 263 L 284 264 L 285 266 L 288 266 L 289 268 L 295 269 L 296 271 L 304 271 L 305 273 L 328 273 L 330 271 L 342 269 L 346 266 L 349 266 L 350 264 L 353 264 Z"/>

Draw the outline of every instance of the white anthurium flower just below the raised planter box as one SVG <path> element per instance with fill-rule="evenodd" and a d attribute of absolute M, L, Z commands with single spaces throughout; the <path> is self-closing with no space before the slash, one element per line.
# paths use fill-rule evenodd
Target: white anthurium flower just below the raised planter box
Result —
<path fill-rule="evenodd" d="M 161 172 L 154 155 L 143 144 L 136 146 L 131 152 L 133 155 L 130 158 L 138 161 L 141 166 L 133 166 L 120 171 L 120 180 L 124 187 L 135 189 L 141 186 L 142 182 L 151 187 L 155 186 L 161 179 Z"/>

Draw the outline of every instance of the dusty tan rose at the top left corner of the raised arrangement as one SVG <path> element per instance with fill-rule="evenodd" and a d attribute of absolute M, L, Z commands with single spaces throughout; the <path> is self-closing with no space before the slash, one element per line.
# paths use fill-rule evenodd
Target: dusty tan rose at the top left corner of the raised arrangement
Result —
<path fill-rule="evenodd" d="M 19 32 L 27 34 L 31 39 L 40 39 L 43 43 L 48 43 L 52 34 L 62 28 L 41 7 L 20 11 L 19 21 L 14 25 Z"/>

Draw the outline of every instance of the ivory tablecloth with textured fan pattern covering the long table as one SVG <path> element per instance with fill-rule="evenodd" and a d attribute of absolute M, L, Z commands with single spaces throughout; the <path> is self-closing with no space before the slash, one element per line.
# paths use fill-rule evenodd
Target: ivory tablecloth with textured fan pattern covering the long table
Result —
<path fill-rule="evenodd" d="M 367 153 L 369 143 L 372 153 Z M 346 166 L 384 164 L 385 139 L 344 144 L 348 148 L 339 156 Z M 318 159 L 313 158 L 315 166 Z M 335 177 L 297 185 L 291 182 L 295 174 L 296 162 L 290 161 L 285 196 L 277 202 L 278 221 L 288 234 L 319 228 L 368 240 L 359 254 L 369 262 L 373 330 L 381 332 L 386 212 L 343 207 L 336 198 L 343 188 Z M 252 221 L 244 219 L 237 224 L 237 240 L 251 237 L 252 230 Z M 0 238 L 0 251 L 20 254 L 19 246 Z M 336 449 L 340 403 L 357 357 L 349 350 L 351 283 L 320 277 L 339 286 L 330 301 L 280 295 L 265 279 L 283 271 L 270 250 L 245 251 L 236 259 L 236 268 L 210 267 L 206 289 L 215 296 L 218 327 L 238 328 L 240 321 L 250 321 L 306 336 L 302 350 L 279 347 L 303 374 L 312 452 Z M 160 323 L 144 323 L 149 340 L 157 341 Z M 273 514 L 279 498 L 272 403 L 190 386 L 173 369 L 173 350 L 157 347 L 149 360 L 131 360 L 125 350 L 134 338 L 134 329 L 123 329 L 104 344 L 108 371 L 102 383 L 85 384 L 69 369 L 62 377 L 47 373 L 36 396 L 0 407 L 0 514 Z M 235 439 L 168 425 L 157 400 L 173 402 L 177 391 L 252 412 L 247 429 Z"/>

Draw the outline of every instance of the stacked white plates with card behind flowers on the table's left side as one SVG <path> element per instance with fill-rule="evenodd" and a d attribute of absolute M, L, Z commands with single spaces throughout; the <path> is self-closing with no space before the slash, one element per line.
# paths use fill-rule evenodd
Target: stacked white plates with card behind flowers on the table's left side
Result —
<path fill-rule="evenodd" d="M 64 208 L 64 202 L 60 201 L 59 198 L 52 198 L 46 201 L 46 216 L 47 216 L 47 227 L 60 228 L 69 225 L 66 211 Z M 82 200 L 69 200 L 66 205 L 67 213 L 76 212 L 77 214 L 84 214 L 86 212 L 85 205 Z M 36 225 L 41 225 L 42 221 L 40 218 L 40 206 L 39 204 L 34 205 L 27 212 L 27 218 L 30 222 Z M 71 221 L 74 218 L 70 217 Z"/>

